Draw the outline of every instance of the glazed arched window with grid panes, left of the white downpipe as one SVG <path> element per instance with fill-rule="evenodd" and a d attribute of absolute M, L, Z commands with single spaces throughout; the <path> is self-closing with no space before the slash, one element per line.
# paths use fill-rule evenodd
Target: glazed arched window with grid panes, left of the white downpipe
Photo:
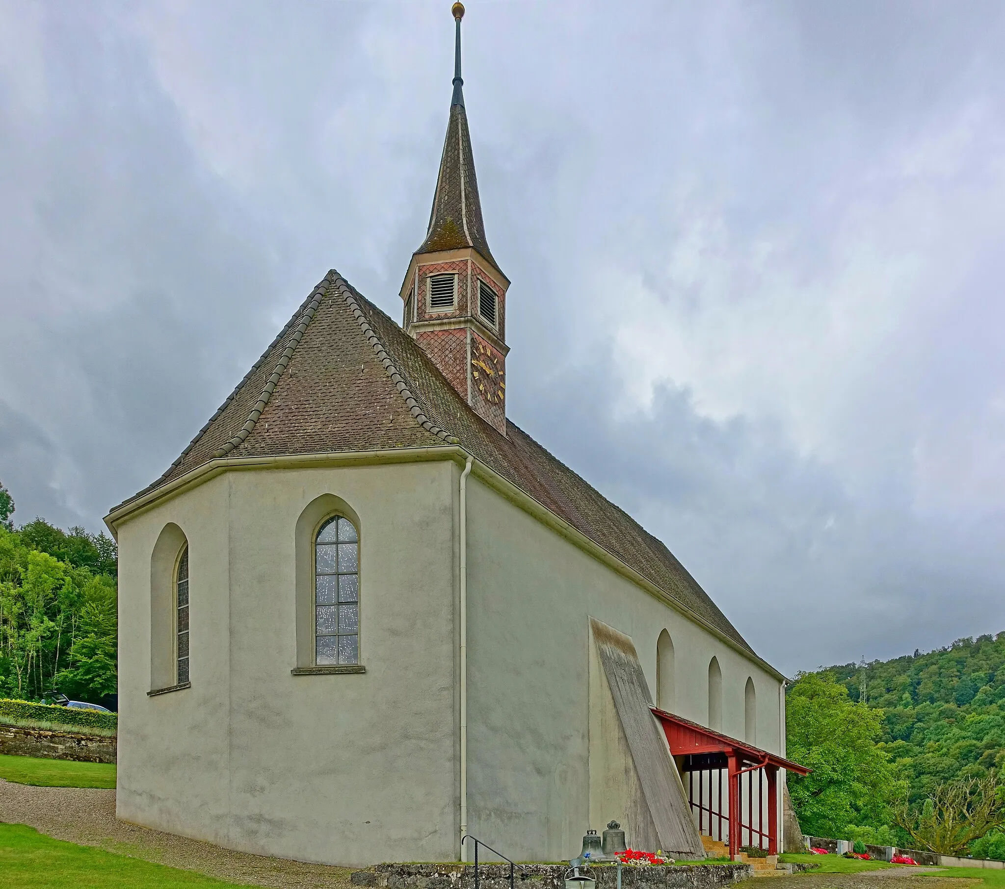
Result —
<path fill-rule="evenodd" d="M 315 662 L 360 662 L 360 544 L 356 526 L 341 515 L 315 537 Z"/>

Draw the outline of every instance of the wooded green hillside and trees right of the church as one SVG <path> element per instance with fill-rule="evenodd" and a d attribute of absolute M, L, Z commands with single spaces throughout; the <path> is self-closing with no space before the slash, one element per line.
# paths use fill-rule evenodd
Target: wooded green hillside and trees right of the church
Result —
<path fill-rule="evenodd" d="M 971 807 L 1001 797 L 1005 633 L 800 674 L 787 701 L 788 752 L 814 769 L 789 779 L 808 833 L 904 845 L 904 813 L 929 817 L 948 789 L 968 785 Z M 973 855 L 1005 858 L 1005 812 L 995 819 Z"/>

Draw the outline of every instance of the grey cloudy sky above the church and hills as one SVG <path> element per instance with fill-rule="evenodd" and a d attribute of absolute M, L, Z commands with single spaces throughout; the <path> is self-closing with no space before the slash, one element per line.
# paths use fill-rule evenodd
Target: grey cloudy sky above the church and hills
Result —
<path fill-rule="evenodd" d="M 511 417 L 794 672 L 1005 630 L 1005 6 L 470 0 Z M 449 0 L 0 0 L 0 480 L 102 527 L 330 267 L 392 315 Z"/>

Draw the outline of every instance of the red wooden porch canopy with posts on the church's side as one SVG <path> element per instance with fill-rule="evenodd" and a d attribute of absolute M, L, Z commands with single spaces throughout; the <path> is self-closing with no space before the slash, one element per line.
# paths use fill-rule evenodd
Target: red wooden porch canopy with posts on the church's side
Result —
<path fill-rule="evenodd" d="M 673 756 L 684 757 L 681 763 L 683 771 L 690 771 L 692 773 L 717 769 L 726 769 L 727 771 L 729 815 L 726 815 L 723 810 L 722 784 L 719 785 L 718 809 L 714 808 L 711 799 L 711 786 L 708 808 L 703 805 L 700 797 L 696 806 L 694 801 L 690 800 L 691 808 L 696 808 L 698 813 L 698 831 L 700 832 L 703 829 L 702 819 L 707 814 L 709 818 L 709 833 L 711 835 L 713 819 L 718 817 L 720 839 L 722 839 L 723 821 L 726 820 L 729 823 L 729 849 L 731 858 L 734 858 L 739 853 L 745 830 L 747 831 L 750 845 L 755 845 L 756 835 L 757 845 L 760 848 L 764 848 L 763 843 L 767 840 L 768 854 L 777 855 L 778 769 L 787 768 L 797 774 L 809 774 L 810 770 L 798 762 L 786 759 L 784 756 L 769 753 L 767 750 L 762 750 L 760 747 L 755 747 L 746 741 L 737 740 L 735 737 L 730 737 L 722 732 L 706 728 L 703 725 L 698 725 L 689 719 L 682 719 L 680 716 L 667 713 L 658 707 L 650 707 L 649 709 L 652 710 L 652 714 L 663 728 L 663 733 L 666 735 L 666 740 L 670 746 L 670 753 Z M 760 773 L 763 773 L 767 777 L 767 831 L 765 831 L 764 822 L 761 820 L 761 802 L 758 803 L 758 817 L 757 824 L 755 825 L 753 785 L 755 772 L 759 772 L 757 784 L 759 795 L 764 789 L 764 786 L 761 784 Z M 719 773 L 722 774 L 722 771 L 720 770 Z M 743 785 L 741 782 L 744 774 L 748 775 L 748 792 L 746 795 L 743 794 Z M 700 787 L 701 784 L 699 782 L 699 789 Z M 747 798 L 748 808 L 748 820 L 746 824 L 744 823 L 743 814 L 744 796 Z M 759 796 L 759 800 L 763 800 L 763 797 Z"/>

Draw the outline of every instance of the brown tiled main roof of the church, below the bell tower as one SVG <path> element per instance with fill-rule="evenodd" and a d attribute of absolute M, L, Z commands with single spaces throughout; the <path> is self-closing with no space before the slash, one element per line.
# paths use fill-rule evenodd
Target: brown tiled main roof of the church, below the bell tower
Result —
<path fill-rule="evenodd" d="M 502 435 L 482 420 L 334 270 L 168 471 L 126 502 L 213 459 L 455 444 L 753 654 L 660 540 L 516 424 Z"/>

